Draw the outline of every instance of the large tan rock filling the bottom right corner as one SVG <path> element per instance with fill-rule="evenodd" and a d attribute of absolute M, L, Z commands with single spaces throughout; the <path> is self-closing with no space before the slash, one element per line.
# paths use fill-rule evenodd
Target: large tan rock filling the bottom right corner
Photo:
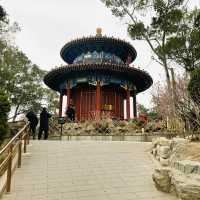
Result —
<path fill-rule="evenodd" d="M 171 183 L 181 200 L 200 200 L 200 180 L 196 176 L 174 170 Z"/>

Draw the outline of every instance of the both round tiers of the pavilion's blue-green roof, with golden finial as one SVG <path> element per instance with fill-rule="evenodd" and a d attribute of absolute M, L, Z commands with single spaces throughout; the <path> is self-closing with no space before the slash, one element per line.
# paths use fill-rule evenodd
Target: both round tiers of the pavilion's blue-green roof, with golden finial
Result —
<path fill-rule="evenodd" d="M 44 82 L 51 89 L 61 91 L 66 81 L 77 82 L 84 79 L 102 79 L 104 84 L 113 83 L 127 85 L 131 92 L 142 92 L 148 89 L 153 80 L 151 76 L 140 69 L 130 67 L 137 56 L 135 48 L 128 42 L 101 35 L 72 40 L 61 49 L 61 57 L 68 63 L 50 71 Z M 133 89 L 134 88 L 134 89 Z"/>

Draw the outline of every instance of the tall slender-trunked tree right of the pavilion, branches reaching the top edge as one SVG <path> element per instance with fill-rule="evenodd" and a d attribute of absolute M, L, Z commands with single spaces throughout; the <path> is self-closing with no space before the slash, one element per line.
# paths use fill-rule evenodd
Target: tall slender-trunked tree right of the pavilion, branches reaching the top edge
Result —
<path fill-rule="evenodd" d="M 177 34 L 186 12 L 186 0 L 101 0 L 113 15 L 126 20 L 128 33 L 133 40 L 146 41 L 153 59 L 163 67 L 168 94 L 171 97 L 171 115 L 175 114 L 170 64 L 165 46 Z"/>

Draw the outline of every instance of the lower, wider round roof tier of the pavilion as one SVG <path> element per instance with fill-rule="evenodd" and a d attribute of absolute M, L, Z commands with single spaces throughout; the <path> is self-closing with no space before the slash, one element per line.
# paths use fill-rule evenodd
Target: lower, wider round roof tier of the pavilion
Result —
<path fill-rule="evenodd" d="M 51 89 L 59 91 L 60 83 L 69 78 L 75 78 L 81 76 L 83 73 L 102 73 L 106 75 L 113 75 L 126 78 L 134 83 L 137 89 L 137 93 L 148 89 L 153 80 L 151 76 L 140 69 L 129 67 L 128 65 L 116 65 L 111 63 L 99 63 L 99 64 L 75 64 L 59 67 L 52 70 L 44 77 L 44 82 Z"/>

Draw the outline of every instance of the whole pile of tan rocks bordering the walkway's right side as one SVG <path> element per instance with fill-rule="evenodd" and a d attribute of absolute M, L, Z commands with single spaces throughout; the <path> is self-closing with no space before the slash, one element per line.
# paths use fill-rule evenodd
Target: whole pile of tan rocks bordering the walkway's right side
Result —
<path fill-rule="evenodd" d="M 160 191 L 175 192 L 180 200 L 200 200 L 200 162 L 186 157 L 188 142 L 182 138 L 171 142 L 155 139 L 151 152 L 165 168 L 155 169 L 152 178 Z M 169 165 L 172 168 L 166 168 Z"/>

